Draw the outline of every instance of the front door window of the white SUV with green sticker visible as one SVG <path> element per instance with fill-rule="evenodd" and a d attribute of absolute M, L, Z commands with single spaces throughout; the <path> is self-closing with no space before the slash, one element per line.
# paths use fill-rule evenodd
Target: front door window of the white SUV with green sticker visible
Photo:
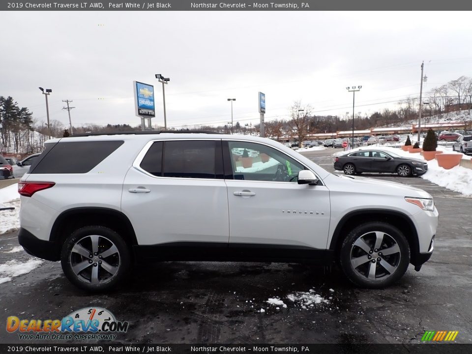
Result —
<path fill-rule="evenodd" d="M 229 142 L 232 172 L 235 179 L 297 182 L 305 167 L 285 153 L 266 145 Z"/>

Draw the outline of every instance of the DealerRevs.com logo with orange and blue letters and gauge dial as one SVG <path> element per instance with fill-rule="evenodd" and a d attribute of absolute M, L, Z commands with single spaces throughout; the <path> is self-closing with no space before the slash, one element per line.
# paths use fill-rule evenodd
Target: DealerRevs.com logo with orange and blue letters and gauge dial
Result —
<path fill-rule="evenodd" d="M 100 307 L 74 311 L 62 320 L 23 320 L 17 316 L 6 319 L 7 332 L 18 333 L 23 340 L 114 340 L 116 333 L 128 330 L 128 325 Z"/>

